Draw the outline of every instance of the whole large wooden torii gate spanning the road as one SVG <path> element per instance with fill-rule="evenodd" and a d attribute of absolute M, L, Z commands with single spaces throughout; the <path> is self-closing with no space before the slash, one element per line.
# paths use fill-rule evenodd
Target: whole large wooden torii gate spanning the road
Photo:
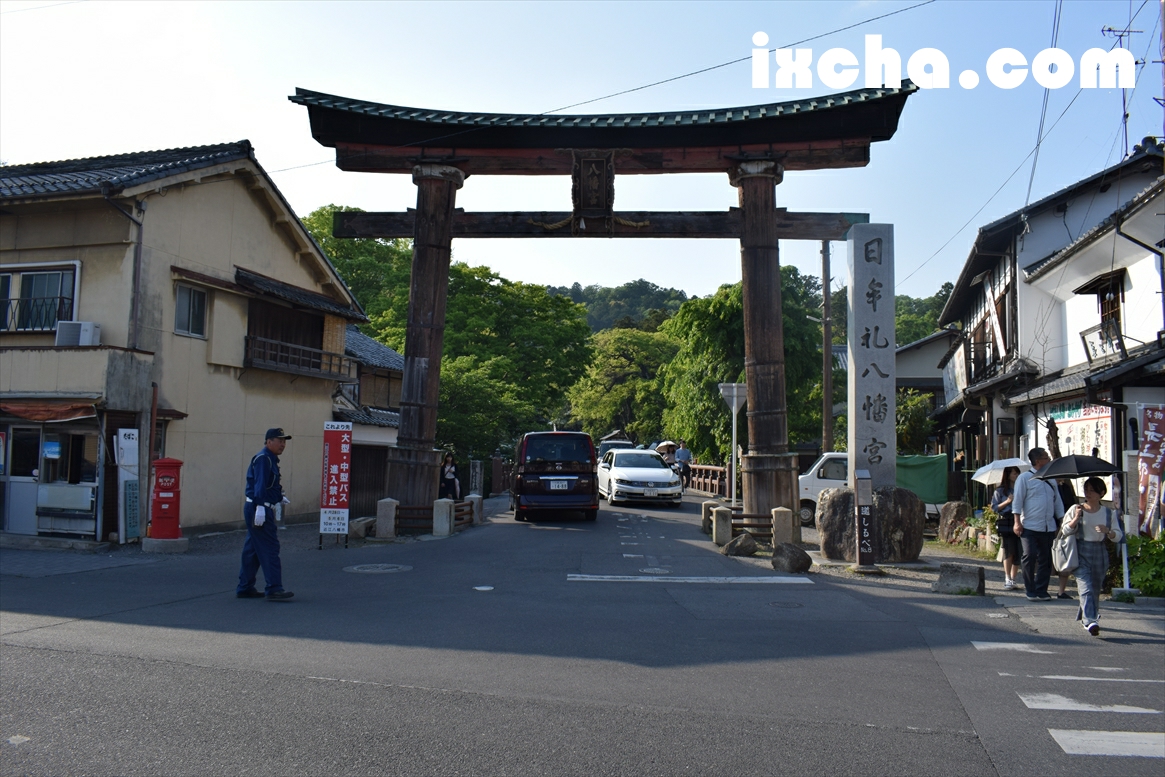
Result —
<path fill-rule="evenodd" d="M 789 170 L 863 167 L 889 140 L 917 91 L 871 89 L 714 111 L 614 115 L 516 115 L 382 105 L 297 89 L 311 134 L 353 172 L 409 174 L 417 207 L 336 214 L 338 238 L 412 238 L 401 426 L 389 448 L 387 493 L 402 504 L 437 494 L 437 397 L 453 238 L 733 238 L 740 240 L 749 452 L 744 511 L 797 509 L 789 453 L 779 240 L 842 240 L 861 213 L 790 213 L 776 206 Z M 615 172 L 720 172 L 739 190 L 725 212 L 619 212 Z M 466 213 L 469 175 L 563 175 L 570 212 Z"/>

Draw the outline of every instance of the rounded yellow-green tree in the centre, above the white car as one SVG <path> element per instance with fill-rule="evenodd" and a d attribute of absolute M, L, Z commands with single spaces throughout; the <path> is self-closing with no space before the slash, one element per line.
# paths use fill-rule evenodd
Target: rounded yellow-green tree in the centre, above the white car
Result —
<path fill-rule="evenodd" d="M 662 437 L 659 369 L 677 344 L 663 332 L 613 329 L 595 334 L 592 345 L 594 358 L 569 394 L 571 417 L 596 438 L 615 429 L 637 443 Z"/>

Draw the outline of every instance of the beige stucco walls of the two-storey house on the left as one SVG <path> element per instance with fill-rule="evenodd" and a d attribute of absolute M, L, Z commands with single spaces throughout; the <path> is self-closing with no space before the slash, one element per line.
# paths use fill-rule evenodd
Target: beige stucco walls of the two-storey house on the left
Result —
<path fill-rule="evenodd" d="M 235 267 L 242 267 L 327 292 L 318 257 L 301 253 L 303 243 L 289 234 L 294 225 L 270 197 L 249 188 L 256 183 L 227 175 L 200 184 L 162 182 L 164 193 L 136 193 L 147 203 L 139 347 L 151 358 L 110 356 L 107 349 L 0 351 L 0 391 L 110 393 L 112 383 L 125 382 L 119 401 L 133 398 L 137 407 L 125 409 L 146 414 L 143 425 L 149 384 L 156 382 L 158 405 L 188 414 L 170 422 L 165 447 L 165 455 L 185 461 L 182 525 L 188 529 L 241 522 L 247 464 L 270 426 L 294 437 L 282 464 L 291 499 L 285 515 L 311 514 L 319 504 L 323 429 L 332 419 L 336 381 L 243 369 L 248 299 L 235 291 L 207 288 L 205 339 L 174 332 L 178 278 L 171 266 L 231 284 Z M 0 264 L 80 260 L 78 319 L 99 323 L 103 342 L 125 346 L 136 236 L 128 219 L 104 202 L 15 210 L 0 217 Z M 343 333 L 343 324 L 337 319 L 331 329 Z M 15 345 L 51 346 L 52 334 L 0 334 L 0 347 Z M 122 356 L 137 360 L 122 363 Z"/>

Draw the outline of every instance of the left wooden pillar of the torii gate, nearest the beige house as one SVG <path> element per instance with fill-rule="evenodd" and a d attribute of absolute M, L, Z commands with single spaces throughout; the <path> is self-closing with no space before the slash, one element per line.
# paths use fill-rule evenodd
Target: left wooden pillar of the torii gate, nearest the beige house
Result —
<path fill-rule="evenodd" d="M 432 504 L 437 499 L 440 451 L 437 398 L 445 345 L 445 299 L 452 254 L 453 206 L 465 174 L 444 164 L 418 164 L 417 216 L 412 238 L 409 320 L 404 334 L 401 426 L 388 448 L 386 492 L 401 504 Z"/>

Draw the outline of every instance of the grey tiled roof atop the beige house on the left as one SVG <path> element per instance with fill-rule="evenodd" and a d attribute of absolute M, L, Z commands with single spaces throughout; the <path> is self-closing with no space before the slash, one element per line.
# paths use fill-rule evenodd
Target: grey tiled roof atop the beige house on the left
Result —
<path fill-rule="evenodd" d="M 0 167 L 0 198 L 115 193 L 127 186 L 252 157 L 250 141 Z"/>

